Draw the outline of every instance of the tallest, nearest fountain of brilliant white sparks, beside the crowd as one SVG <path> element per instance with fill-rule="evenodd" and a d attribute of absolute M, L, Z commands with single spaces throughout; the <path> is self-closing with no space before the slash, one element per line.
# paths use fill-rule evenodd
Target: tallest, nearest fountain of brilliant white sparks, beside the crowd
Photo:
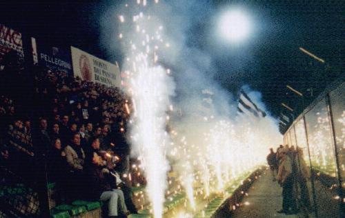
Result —
<path fill-rule="evenodd" d="M 145 7 L 147 1 L 137 0 L 137 5 Z M 134 29 L 126 35 L 130 52 L 127 53 L 128 72 L 130 75 L 130 95 L 134 107 L 134 116 L 130 123 L 132 143 L 134 150 L 139 153 L 142 168 L 146 175 L 146 193 L 152 203 L 152 214 L 159 218 L 163 214 L 165 200 L 168 161 L 165 157 L 166 146 L 169 144 L 169 136 L 166 132 L 166 120 L 170 103 L 169 97 L 173 89 L 168 89 L 168 83 L 172 79 L 166 74 L 166 69 L 159 65 L 159 56 L 155 49 L 161 46 L 163 35 L 160 25 L 152 27 L 150 17 L 144 12 L 132 16 Z M 119 16 L 121 23 L 124 23 L 124 16 Z M 128 28 L 126 26 L 125 28 Z M 121 33 L 120 38 L 124 38 Z M 125 104 L 128 114 L 130 109 Z"/>

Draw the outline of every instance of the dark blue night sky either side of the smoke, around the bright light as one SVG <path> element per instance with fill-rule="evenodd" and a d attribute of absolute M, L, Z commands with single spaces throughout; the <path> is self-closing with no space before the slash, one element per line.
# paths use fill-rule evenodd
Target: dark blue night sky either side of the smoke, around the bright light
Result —
<path fill-rule="evenodd" d="M 52 46 L 76 46 L 97 57 L 114 62 L 123 54 L 109 54 L 100 44 L 99 18 L 109 6 L 120 1 L 1 1 L 0 23 L 30 34 Z M 302 3 L 303 2 L 303 3 Z M 301 100 L 286 89 L 293 86 L 311 101 L 340 74 L 344 73 L 345 1 L 208 1 L 212 12 L 191 28 L 188 43 L 208 50 L 217 69 L 214 79 L 237 92 L 249 84 L 262 92 L 264 103 L 276 117 L 288 114 L 280 106 L 287 103 L 300 111 Z M 213 12 L 242 5 L 259 23 L 244 46 L 219 47 L 207 39 Z M 210 17 L 208 17 L 210 16 Z M 306 48 L 326 63 L 319 63 L 299 51 Z M 228 73 L 231 71 L 232 73 Z"/>

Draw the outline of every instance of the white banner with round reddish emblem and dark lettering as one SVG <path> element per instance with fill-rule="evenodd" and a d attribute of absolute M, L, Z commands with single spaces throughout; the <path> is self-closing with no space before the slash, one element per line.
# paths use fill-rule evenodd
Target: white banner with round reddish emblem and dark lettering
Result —
<path fill-rule="evenodd" d="M 71 46 L 75 77 L 106 86 L 121 88 L 119 67 Z"/>

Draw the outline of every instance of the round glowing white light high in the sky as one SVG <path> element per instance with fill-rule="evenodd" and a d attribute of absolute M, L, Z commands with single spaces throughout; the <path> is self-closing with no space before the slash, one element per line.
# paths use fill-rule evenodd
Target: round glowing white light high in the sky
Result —
<path fill-rule="evenodd" d="M 239 42 L 248 37 L 250 21 L 244 12 L 230 10 L 221 16 L 219 28 L 221 37 L 230 42 Z"/>

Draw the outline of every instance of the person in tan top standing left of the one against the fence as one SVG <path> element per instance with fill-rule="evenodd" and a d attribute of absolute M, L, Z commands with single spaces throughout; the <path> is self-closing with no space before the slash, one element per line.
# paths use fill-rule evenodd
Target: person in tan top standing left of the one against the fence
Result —
<path fill-rule="evenodd" d="M 293 176 L 292 176 L 292 162 L 290 157 L 288 157 L 288 149 L 282 148 L 279 151 L 280 162 L 277 174 L 278 183 L 281 184 L 283 188 L 283 204 L 282 210 L 277 212 L 294 214 L 295 213 L 295 201 L 293 199 Z"/>

